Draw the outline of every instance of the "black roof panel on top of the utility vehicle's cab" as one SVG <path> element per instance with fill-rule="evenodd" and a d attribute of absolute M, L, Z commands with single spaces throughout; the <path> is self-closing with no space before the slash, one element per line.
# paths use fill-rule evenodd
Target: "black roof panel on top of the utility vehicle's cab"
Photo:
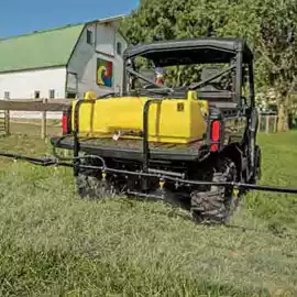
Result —
<path fill-rule="evenodd" d="M 243 53 L 243 62 L 249 63 L 253 59 L 253 54 L 244 40 L 226 37 L 199 37 L 139 44 L 128 47 L 123 57 L 128 59 L 143 56 L 160 66 L 229 63 L 239 51 Z"/>

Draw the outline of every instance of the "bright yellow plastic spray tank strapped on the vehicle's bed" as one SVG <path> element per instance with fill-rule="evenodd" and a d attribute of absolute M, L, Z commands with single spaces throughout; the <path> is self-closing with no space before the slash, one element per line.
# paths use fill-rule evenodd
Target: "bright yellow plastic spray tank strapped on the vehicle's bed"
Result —
<path fill-rule="evenodd" d="M 88 95 L 88 99 L 90 97 L 92 98 Z M 143 107 L 147 99 L 120 97 L 86 101 L 79 109 L 79 134 L 140 139 Z M 73 112 L 75 105 L 76 101 L 73 102 Z M 204 114 L 207 113 L 207 101 L 197 100 L 197 95 L 193 91 L 188 92 L 187 99 L 165 99 L 153 103 L 148 111 L 148 141 L 189 143 L 201 140 L 207 129 L 204 119 Z"/>

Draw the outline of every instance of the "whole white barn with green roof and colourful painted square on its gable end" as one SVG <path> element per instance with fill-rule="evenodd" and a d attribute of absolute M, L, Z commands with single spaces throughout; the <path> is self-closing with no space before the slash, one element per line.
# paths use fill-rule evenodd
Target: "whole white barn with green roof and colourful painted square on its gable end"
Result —
<path fill-rule="evenodd" d="M 0 99 L 118 91 L 127 41 L 116 16 L 0 40 Z"/>

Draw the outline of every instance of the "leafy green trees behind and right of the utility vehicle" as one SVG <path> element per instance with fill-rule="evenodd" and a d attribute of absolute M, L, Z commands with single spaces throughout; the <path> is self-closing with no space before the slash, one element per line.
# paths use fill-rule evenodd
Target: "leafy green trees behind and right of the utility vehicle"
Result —
<path fill-rule="evenodd" d="M 279 131 L 288 129 L 288 119 L 296 112 L 296 28 L 295 0 L 141 0 L 122 23 L 130 44 L 156 36 L 245 38 L 255 57 L 256 91 L 275 101 Z"/>

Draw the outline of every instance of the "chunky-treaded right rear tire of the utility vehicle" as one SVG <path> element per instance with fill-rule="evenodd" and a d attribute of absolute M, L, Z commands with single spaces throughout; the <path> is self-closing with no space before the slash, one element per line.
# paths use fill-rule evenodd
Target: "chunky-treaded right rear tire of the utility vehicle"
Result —
<path fill-rule="evenodd" d="M 235 182 L 237 166 L 230 158 L 219 160 L 213 168 L 211 182 Z M 233 200 L 233 186 L 211 186 L 209 191 L 191 193 L 191 215 L 198 223 L 222 224 L 227 223 L 238 202 Z"/>

